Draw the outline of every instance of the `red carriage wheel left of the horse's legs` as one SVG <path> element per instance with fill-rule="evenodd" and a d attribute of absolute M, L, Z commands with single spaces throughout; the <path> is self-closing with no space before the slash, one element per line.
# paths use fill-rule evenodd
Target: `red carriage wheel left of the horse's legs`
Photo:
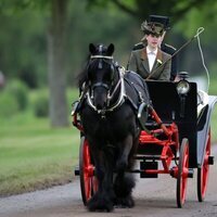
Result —
<path fill-rule="evenodd" d="M 80 140 L 79 151 L 80 190 L 84 205 L 92 197 L 98 189 L 94 166 L 91 161 L 89 143 L 85 137 Z"/>

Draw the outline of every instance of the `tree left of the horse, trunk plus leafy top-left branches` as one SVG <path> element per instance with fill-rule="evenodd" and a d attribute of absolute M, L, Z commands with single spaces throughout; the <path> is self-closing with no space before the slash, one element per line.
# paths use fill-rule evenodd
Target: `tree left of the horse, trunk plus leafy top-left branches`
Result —
<path fill-rule="evenodd" d="M 48 10 L 49 107 L 52 127 L 68 125 L 64 68 L 67 3 L 67 0 L 0 0 L 0 13 L 14 14 L 23 10 Z"/>

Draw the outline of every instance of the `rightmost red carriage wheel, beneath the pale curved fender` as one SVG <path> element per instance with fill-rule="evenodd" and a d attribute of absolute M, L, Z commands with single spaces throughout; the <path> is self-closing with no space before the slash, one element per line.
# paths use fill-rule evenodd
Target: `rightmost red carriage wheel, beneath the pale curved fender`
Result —
<path fill-rule="evenodd" d="M 206 194 L 208 175 L 209 175 L 209 163 L 208 157 L 210 155 L 210 129 L 208 131 L 207 143 L 204 153 L 203 164 L 197 168 L 197 199 L 199 202 L 203 202 Z"/>

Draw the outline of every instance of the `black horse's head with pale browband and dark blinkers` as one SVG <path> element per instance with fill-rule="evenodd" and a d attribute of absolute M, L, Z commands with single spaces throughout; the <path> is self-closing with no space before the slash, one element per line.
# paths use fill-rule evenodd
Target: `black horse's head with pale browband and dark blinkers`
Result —
<path fill-rule="evenodd" d="M 108 94 L 115 79 L 115 64 L 113 60 L 114 44 L 94 46 L 90 43 L 90 60 L 87 67 L 87 80 L 93 105 L 98 111 L 105 110 Z"/>

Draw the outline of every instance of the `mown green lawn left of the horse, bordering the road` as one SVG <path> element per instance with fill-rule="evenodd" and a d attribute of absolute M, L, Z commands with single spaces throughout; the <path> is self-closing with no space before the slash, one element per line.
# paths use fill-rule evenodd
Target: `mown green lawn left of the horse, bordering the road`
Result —
<path fill-rule="evenodd" d="M 79 132 L 72 125 L 52 129 L 48 118 L 36 118 L 30 110 L 1 117 L 0 195 L 72 181 L 78 149 Z"/>

